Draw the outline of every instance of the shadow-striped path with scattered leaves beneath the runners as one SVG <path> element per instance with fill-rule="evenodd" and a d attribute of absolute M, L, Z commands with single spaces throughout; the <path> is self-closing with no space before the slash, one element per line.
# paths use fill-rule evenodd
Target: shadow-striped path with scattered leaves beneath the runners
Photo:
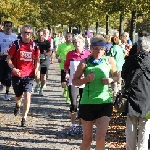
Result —
<path fill-rule="evenodd" d="M 2 98 L 4 91 L 0 92 L 0 150 L 79 150 L 82 135 L 66 135 L 70 125 L 69 106 L 62 97 L 60 70 L 56 62 L 50 66 L 44 93 L 44 97 L 33 93 L 28 126 L 22 128 L 21 114 L 13 115 L 14 95 L 11 95 L 12 101 L 6 102 Z M 112 133 L 110 129 L 109 134 Z M 116 143 L 113 136 L 108 136 L 107 140 Z M 95 148 L 94 138 L 91 150 Z M 107 142 L 107 145 L 111 145 L 111 142 Z"/>

